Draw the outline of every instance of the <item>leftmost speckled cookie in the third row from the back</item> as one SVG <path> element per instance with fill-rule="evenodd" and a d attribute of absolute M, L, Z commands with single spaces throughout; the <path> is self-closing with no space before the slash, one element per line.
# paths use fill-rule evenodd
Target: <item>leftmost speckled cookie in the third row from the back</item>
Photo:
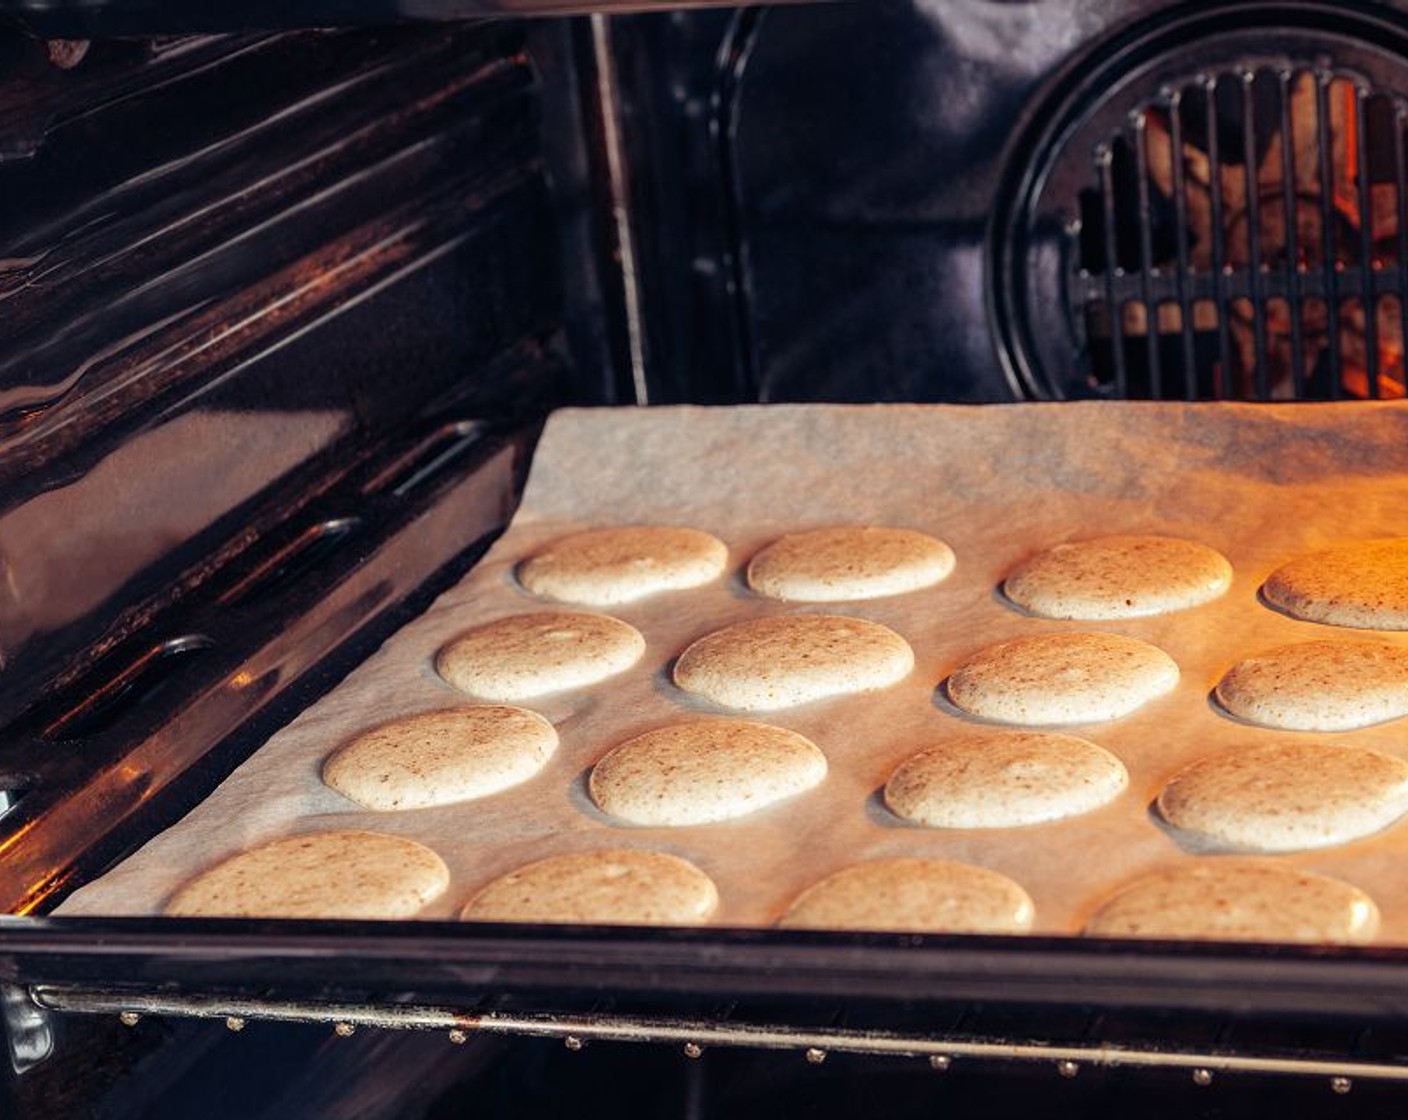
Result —
<path fill-rule="evenodd" d="M 375 810 L 486 797 L 532 778 L 558 749 L 536 711 L 505 704 L 424 711 L 358 735 L 322 764 L 322 780 Z"/>

